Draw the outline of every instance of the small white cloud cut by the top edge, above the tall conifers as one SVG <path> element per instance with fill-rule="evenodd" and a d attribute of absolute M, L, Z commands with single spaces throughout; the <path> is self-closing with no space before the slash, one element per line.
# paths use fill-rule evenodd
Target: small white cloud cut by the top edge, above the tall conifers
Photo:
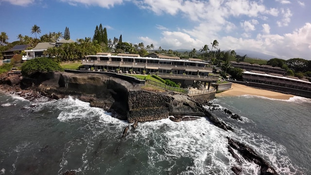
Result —
<path fill-rule="evenodd" d="M 100 6 L 104 8 L 113 7 L 116 4 L 121 4 L 123 0 L 61 0 L 67 2 L 70 5 L 76 6 L 78 3 L 85 4 L 87 6 Z"/>

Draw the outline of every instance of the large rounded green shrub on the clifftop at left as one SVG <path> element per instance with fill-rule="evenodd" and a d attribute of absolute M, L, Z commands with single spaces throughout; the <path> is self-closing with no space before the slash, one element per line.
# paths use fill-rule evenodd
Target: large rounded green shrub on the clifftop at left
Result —
<path fill-rule="evenodd" d="M 52 73 L 55 71 L 63 71 L 63 68 L 47 57 L 31 59 L 21 66 L 21 73 L 24 76 L 31 76 L 35 73 Z"/>

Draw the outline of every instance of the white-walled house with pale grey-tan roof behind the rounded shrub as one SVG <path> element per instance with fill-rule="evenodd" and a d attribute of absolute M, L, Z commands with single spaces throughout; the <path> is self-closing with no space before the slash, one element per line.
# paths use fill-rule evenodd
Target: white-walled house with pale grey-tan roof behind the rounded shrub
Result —
<path fill-rule="evenodd" d="M 33 49 L 25 50 L 26 55 L 23 56 L 22 59 L 25 61 L 34 59 L 35 57 L 44 57 L 44 56 L 48 57 L 49 55 L 44 55 L 43 52 L 52 47 L 55 47 L 55 43 L 51 42 L 38 43 Z"/>

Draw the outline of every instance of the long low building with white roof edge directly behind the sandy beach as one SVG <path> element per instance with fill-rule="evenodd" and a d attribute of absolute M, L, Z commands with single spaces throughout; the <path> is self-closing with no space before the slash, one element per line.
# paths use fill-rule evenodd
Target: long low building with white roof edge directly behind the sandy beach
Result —
<path fill-rule="evenodd" d="M 293 76 L 283 76 L 282 74 L 266 74 L 265 72 L 255 70 L 244 71 L 243 80 L 245 82 L 270 85 L 271 87 L 285 87 L 311 92 L 311 82 L 308 80 Z"/>

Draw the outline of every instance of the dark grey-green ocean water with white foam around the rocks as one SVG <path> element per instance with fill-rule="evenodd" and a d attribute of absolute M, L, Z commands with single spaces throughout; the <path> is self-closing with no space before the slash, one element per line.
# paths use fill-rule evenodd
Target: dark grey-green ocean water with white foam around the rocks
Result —
<path fill-rule="evenodd" d="M 213 100 L 213 113 L 235 129 L 224 131 L 206 118 L 131 123 L 71 97 L 29 102 L 0 94 L 0 170 L 4 175 L 232 175 L 239 165 L 226 137 L 252 147 L 280 175 L 311 175 L 311 100 L 254 96 Z M 206 106 L 207 107 L 207 106 Z M 242 116 L 236 121 L 222 112 Z M 244 175 L 259 167 L 247 161 Z M 1 174 L 1 173 L 0 173 Z"/>

